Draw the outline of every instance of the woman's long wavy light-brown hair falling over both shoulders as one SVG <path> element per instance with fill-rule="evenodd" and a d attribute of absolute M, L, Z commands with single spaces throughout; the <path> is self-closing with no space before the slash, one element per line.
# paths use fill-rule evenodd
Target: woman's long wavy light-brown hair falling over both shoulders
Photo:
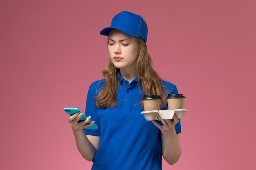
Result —
<path fill-rule="evenodd" d="M 143 90 L 145 95 L 160 95 L 162 98 L 162 106 L 167 103 L 166 100 L 166 88 L 161 84 L 161 78 L 155 72 L 153 63 L 146 43 L 141 38 L 136 38 L 139 46 L 139 53 L 137 56 L 136 71 L 138 74 L 137 85 Z M 118 104 L 116 97 L 117 88 L 119 85 L 119 79 L 117 73 L 119 68 L 116 68 L 108 57 L 106 67 L 102 72 L 104 78 L 104 85 L 98 89 L 99 95 L 97 95 L 95 104 L 98 108 L 115 108 Z"/>

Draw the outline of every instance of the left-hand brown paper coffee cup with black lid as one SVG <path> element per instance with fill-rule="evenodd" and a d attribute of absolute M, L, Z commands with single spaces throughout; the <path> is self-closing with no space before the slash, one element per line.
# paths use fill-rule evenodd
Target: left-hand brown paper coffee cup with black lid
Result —
<path fill-rule="evenodd" d="M 161 97 L 159 95 L 144 95 L 143 98 L 144 111 L 160 110 Z"/>

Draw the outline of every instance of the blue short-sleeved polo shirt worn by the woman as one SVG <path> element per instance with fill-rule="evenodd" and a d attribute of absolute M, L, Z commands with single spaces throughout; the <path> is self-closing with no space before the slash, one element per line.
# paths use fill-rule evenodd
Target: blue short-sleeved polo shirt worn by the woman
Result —
<path fill-rule="evenodd" d="M 84 129 L 86 135 L 100 136 L 99 149 L 92 161 L 92 170 L 162 170 L 161 132 L 141 114 L 141 97 L 137 78 L 131 83 L 119 74 L 118 105 L 97 108 L 94 97 L 103 80 L 90 85 L 85 115 L 99 128 Z M 175 85 L 162 82 L 168 93 L 178 93 Z M 165 108 L 162 109 L 166 109 Z M 181 132 L 180 120 L 175 126 Z"/>

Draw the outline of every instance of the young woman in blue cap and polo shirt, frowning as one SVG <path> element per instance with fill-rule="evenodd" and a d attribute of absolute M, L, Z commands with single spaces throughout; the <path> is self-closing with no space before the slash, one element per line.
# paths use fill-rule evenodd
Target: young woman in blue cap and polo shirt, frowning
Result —
<path fill-rule="evenodd" d="M 146 121 L 141 114 L 143 95 L 178 93 L 175 85 L 160 79 L 148 55 L 147 25 L 140 15 L 123 11 L 111 26 L 101 30 L 108 36 L 109 58 L 103 78 L 90 85 L 85 115 L 69 118 L 81 155 L 93 161 L 92 170 L 161 170 L 162 156 L 169 164 L 178 161 L 181 147 L 180 120 Z M 88 121 L 92 119 L 90 124 Z M 87 129 L 92 124 L 97 129 Z"/>

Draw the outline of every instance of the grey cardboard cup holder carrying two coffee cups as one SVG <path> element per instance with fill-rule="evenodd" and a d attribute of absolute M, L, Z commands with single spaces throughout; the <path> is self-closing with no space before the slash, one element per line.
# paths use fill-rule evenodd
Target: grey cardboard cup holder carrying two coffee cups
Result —
<path fill-rule="evenodd" d="M 162 119 L 173 119 L 174 114 L 177 116 L 178 119 L 182 119 L 187 111 L 187 109 L 150 110 L 142 111 L 141 114 L 144 115 L 147 121 L 152 121 L 160 120 L 158 118 L 158 114 L 161 116 Z"/>

